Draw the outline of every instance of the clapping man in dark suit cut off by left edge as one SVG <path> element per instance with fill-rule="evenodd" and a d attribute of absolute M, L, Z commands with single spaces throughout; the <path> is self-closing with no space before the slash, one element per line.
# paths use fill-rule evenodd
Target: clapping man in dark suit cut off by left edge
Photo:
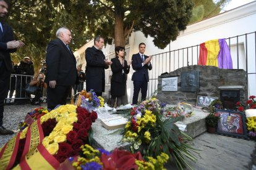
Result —
<path fill-rule="evenodd" d="M 10 52 L 15 52 L 17 48 L 24 46 L 22 41 L 14 40 L 14 32 L 7 23 L 2 22 L 2 18 L 8 12 L 6 1 L 0 0 L 0 135 L 13 134 L 2 126 L 4 117 L 4 99 L 6 99 L 12 71 Z"/>

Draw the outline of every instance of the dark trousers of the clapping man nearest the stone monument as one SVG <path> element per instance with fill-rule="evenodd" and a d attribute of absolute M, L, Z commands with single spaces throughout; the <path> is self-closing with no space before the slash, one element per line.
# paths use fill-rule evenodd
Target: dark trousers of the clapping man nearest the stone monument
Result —
<path fill-rule="evenodd" d="M 146 99 L 147 91 L 148 91 L 148 82 L 146 79 L 143 79 L 143 81 L 134 81 L 134 96 L 132 97 L 133 105 L 137 105 L 137 103 L 138 103 L 138 97 L 139 97 L 140 90 L 142 93 L 142 101 L 143 101 Z"/>

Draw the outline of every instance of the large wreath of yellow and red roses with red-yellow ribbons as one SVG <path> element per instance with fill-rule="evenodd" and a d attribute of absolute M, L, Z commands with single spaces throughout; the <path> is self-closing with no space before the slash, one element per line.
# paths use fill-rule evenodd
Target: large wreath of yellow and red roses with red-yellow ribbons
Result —
<path fill-rule="evenodd" d="M 92 123 L 98 116 L 82 107 L 61 105 L 37 118 L 4 145 L 0 169 L 16 165 L 21 169 L 57 169 L 66 158 L 79 155 L 82 145 L 92 142 Z M 38 159 L 40 164 L 33 163 Z"/>

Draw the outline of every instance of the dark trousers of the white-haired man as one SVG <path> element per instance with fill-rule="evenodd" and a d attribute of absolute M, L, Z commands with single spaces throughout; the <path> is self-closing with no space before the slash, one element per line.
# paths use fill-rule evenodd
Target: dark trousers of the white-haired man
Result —
<path fill-rule="evenodd" d="M 71 86 L 55 86 L 47 88 L 47 108 L 53 110 L 57 105 L 66 105 Z"/>

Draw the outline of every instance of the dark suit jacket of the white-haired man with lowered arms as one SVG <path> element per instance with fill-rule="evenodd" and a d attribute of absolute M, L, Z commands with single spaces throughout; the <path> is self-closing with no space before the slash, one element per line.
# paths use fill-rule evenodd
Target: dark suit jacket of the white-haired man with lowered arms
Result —
<path fill-rule="evenodd" d="M 78 83 L 75 56 L 64 42 L 57 38 L 49 42 L 46 48 L 47 73 L 45 82 L 56 80 L 59 86 L 72 86 Z"/>

